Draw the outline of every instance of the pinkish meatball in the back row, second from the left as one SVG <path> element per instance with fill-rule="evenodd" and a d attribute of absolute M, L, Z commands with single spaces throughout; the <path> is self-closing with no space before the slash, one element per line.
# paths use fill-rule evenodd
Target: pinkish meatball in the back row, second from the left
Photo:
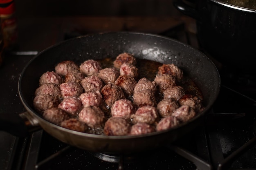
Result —
<path fill-rule="evenodd" d="M 86 60 L 83 62 L 79 69 L 82 73 L 84 73 L 87 76 L 90 75 L 98 75 L 99 71 L 102 69 L 101 64 L 98 61 L 95 60 Z"/>

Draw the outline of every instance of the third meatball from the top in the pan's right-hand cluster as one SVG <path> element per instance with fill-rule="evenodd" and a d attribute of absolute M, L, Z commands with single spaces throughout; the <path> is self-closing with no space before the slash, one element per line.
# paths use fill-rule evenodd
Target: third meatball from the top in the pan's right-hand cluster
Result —
<path fill-rule="evenodd" d="M 179 100 L 185 95 L 184 88 L 182 86 L 169 86 L 164 92 L 164 98 L 172 98 Z"/>

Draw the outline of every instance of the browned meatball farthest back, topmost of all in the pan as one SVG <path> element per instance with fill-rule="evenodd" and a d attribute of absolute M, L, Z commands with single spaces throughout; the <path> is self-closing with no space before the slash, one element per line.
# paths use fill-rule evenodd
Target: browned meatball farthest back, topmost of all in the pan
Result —
<path fill-rule="evenodd" d="M 122 53 L 119 54 L 116 60 L 113 62 L 115 68 L 120 68 L 120 66 L 124 63 L 135 65 L 136 59 L 130 53 Z"/>

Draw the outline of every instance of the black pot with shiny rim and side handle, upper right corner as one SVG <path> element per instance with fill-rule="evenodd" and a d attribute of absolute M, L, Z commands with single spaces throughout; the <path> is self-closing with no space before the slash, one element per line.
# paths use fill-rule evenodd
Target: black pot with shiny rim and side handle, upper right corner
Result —
<path fill-rule="evenodd" d="M 256 10 L 220 0 L 175 0 L 174 6 L 196 20 L 200 46 L 238 72 L 256 73 Z"/>

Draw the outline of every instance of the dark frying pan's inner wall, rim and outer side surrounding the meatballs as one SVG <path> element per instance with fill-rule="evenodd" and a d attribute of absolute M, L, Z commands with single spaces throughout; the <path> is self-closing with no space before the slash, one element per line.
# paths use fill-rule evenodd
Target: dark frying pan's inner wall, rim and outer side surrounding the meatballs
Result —
<path fill-rule="evenodd" d="M 169 130 L 137 136 L 105 136 L 62 128 L 43 119 L 34 109 L 33 97 L 39 86 L 40 76 L 46 71 L 54 70 L 58 62 L 73 60 L 79 64 L 88 59 L 117 57 L 124 52 L 132 53 L 136 58 L 179 66 L 201 89 L 204 111 Z M 27 110 L 28 119 L 38 122 L 47 133 L 67 144 L 84 150 L 111 154 L 130 154 L 150 150 L 182 137 L 202 123 L 204 115 L 216 100 L 219 89 L 218 70 L 203 53 L 177 40 L 135 32 L 99 33 L 55 44 L 40 52 L 25 66 L 18 82 L 20 99 Z"/>

